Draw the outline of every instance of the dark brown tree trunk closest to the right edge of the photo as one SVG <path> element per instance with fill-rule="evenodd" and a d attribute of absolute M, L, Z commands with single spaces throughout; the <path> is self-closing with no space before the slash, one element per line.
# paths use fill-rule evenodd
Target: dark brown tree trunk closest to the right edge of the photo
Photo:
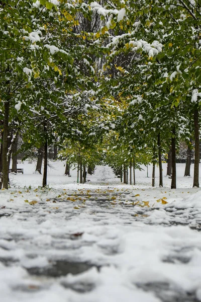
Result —
<path fill-rule="evenodd" d="M 199 114 L 198 106 L 194 107 L 193 120 L 194 120 L 194 176 L 193 187 L 199 187 Z"/>

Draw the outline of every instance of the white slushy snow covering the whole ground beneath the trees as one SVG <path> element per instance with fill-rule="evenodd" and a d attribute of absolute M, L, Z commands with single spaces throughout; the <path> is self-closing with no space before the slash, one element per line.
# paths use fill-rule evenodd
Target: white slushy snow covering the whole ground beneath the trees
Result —
<path fill-rule="evenodd" d="M 1 302 L 201 301 L 201 191 L 184 165 L 171 190 L 167 177 L 151 187 L 151 166 L 133 186 L 109 167 L 77 184 L 64 164 L 51 162 L 45 189 L 19 164 L 0 192 Z"/>

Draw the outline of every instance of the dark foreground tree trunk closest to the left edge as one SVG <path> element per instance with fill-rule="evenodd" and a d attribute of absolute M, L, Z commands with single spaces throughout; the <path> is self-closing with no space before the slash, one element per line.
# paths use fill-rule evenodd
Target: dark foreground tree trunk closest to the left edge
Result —
<path fill-rule="evenodd" d="M 10 101 L 4 104 L 4 132 L 3 132 L 3 188 L 8 189 L 9 183 L 9 167 L 8 167 L 8 136 L 9 136 L 9 108 Z"/>

